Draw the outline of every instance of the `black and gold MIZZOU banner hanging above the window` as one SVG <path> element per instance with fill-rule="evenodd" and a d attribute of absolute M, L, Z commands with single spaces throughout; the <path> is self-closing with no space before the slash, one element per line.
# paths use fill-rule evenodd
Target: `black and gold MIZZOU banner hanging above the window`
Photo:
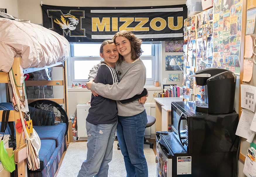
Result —
<path fill-rule="evenodd" d="M 117 31 L 143 41 L 183 40 L 186 5 L 153 7 L 64 7 L 42 5 L 43 26 L 69 42 L 102 42 Z"/>

